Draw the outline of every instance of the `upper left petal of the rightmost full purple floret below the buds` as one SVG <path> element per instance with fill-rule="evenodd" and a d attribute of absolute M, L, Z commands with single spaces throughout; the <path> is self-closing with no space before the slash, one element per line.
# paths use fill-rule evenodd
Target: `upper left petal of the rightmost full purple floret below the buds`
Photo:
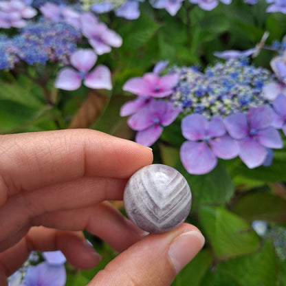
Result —
<path fill-rule="evenodd" d="M 235 113 L 224 120 L 225 128 L 234 139 L 242 139 L 248 135 L 248 120 L 243 113 Z"/>

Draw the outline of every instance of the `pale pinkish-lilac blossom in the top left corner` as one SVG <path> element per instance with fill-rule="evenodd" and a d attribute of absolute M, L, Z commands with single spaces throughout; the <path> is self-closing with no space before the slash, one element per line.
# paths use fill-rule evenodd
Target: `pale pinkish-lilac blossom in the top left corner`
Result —
<path fill-rule="evenodd" d="M 0 1 L 0 28 L 23 28 L 25 19 L 31 19 L 36 14 L 36 10 L 26 5 L 25 1 Z"/>

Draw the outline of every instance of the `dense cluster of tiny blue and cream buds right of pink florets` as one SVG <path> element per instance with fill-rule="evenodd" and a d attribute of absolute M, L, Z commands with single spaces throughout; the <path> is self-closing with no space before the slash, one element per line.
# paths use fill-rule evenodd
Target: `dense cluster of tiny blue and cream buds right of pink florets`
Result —
<path fill-rule="evenodd" d="M 193 67 L 174 68 L 171 72 L 179 74 L 179 83 L 170 100 L 183 111 L 207 118 L 248 111 L 267 103 L 261 91 L 273 78 L 267 69 L 236 59 L 219 62 L 204 73 Z"/>

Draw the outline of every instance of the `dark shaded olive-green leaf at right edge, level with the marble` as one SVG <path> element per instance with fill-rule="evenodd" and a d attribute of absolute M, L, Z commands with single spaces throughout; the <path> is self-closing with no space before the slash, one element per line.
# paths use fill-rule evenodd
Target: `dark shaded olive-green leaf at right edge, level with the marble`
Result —
<path fill-rule="evenodd" d="M 286 200 L 267 192 L 250 192 L 232 211 L 250 223 L 256 219 L 286 223 Z"/>

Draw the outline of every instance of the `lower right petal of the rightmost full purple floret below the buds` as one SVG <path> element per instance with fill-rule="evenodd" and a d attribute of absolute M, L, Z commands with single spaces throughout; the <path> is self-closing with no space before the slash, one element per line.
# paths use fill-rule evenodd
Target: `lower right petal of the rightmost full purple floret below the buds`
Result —
<path fill-rule="evenodd" d="M 267 148 L 282 148 L 283 142 L 279 132 L 270 126 L 256 133 L 258 142 Z"/>

